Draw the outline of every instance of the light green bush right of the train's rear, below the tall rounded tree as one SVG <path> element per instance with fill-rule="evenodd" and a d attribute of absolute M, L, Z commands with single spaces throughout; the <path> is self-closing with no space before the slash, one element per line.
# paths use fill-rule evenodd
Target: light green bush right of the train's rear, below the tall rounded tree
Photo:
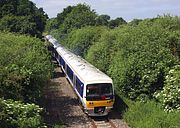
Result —
<path fill-rule="evenodd" d="M 70 48 L 74 53 L 85 56 L 90 46 L 96 42 L 105 27 L 84 27 L 68 34 L 67 38 L 61 43 Z"/>

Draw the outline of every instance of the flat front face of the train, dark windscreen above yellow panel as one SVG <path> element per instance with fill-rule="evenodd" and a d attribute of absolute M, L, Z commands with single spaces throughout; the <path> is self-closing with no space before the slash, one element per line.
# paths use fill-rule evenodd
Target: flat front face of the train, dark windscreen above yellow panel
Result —
<path fill-rule="evenodd" d="M 108 115 L 114 104 L 114 91 L 111 83 L 88 84 L 84 92 L 85 112 L 89 116 Z"/>

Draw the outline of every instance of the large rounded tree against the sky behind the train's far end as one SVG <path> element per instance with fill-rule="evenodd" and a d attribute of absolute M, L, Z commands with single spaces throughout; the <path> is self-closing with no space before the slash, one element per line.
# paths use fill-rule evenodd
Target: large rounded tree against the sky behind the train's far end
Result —
<path fill-rule="evenodd" d="M 96 16 L 96 13 L 88 5 L 78 4 L 73 7 L 68 6 L 57 17 L 60 25 L 60 37 L 63 37 L 63 34 L 70 33 L 74 29 L 95 25 Z"/>

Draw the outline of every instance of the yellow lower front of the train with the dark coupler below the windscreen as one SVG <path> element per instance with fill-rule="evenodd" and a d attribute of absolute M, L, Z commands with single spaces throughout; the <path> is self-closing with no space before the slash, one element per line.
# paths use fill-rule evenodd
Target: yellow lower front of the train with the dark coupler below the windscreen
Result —
<path fill-rule="evenodd" d="M 114 100 L 98 100 L 98 101 L 87 101 L 86 99 L 85 112 L 89 116 L 106 116 L 113 108 Z"/>

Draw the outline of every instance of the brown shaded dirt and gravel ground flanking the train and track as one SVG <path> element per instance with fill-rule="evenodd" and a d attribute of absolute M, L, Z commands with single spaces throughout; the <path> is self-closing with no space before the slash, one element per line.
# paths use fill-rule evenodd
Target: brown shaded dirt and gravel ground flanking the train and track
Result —
<path fill-rule="evenodd" d="M 68 128 L 91 128 L 92 123 L 82 111 L 74 90 L 55 61 L 54 64 L 54 78 L 44 89 L 43 106 L 48 113 L 45 116 L 48 127 L 63 124 Z M 127 128 L 127 124 L 118 115 L 112 112 L 110 118 L 118 128 Z"/>

